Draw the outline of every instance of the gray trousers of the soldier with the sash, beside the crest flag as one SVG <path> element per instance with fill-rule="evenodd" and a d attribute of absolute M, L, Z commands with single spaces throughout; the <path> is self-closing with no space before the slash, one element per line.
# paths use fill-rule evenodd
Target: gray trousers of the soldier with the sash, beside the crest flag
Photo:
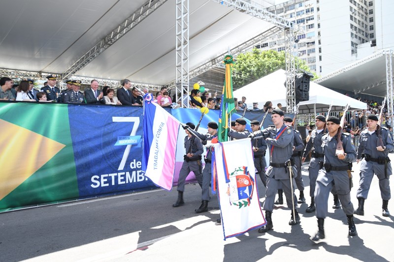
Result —
<path fill-rule="evenodd" d="M 269 167 L 268 169 L 277 169 L 281 170 L 281 172 L 285 173 L 285 168 L 273 168 Z M 278 172 L 278 171 L 276 171 Z M 293 167 L 293 172 L 294 172 L 294 167 Z M 267 176 L 267 185 L 265 189 L 265 201 L 263 204 L 263 210 L 270 211 L 272 212 L 274 209 L 274 202 L 275 202 L 275 195 L 276 192 L 278 191 L 278 186 L 281 186 L 283 189 L 283 192 L 285 193 L 286 197 L 286 204 L 287 207 L 290 209 L 293 209 L 292 205 L 292 189 L 290 185 L 290 175 L 288 179 L 275 179 L 272 177 Z M 293 186 L 294 186 L 294 179 L 293 179 Z M 294 189 L 293 189 L 294 190 Z M 294 199 L 294 207 L 297 209 L 297 197 L 296 194 L 294 194 L 293 191 L 293 199 Z"/>

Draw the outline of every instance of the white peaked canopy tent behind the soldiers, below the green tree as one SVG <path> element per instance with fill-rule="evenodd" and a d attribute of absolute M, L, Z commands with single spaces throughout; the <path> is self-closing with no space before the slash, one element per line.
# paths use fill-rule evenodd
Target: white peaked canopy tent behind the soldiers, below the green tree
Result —
<path fill-rule="evenodd" d="M 234 97 L 238 100 L 242 96 L 247 99 L 248 108 L 252 108 L 252 103 L 259 103 L 259 108 L 263 108 L 266 101 L 271 101 L 276 107 L 277 103 L 286 106 L 286 71 L 279 69 L 259 80 L 256 80 L 245 87 L 234 91 Z M 367 105 L 359 100 L 335 92 L 316 83 L 310 82 L 309 100 L 299 103 L 299 114 L 310 114 L 315 112 L 325 112 L 332 104 L 331 111 L 340 111 L 346 104 L 350 109 L 367 109 Z"/>

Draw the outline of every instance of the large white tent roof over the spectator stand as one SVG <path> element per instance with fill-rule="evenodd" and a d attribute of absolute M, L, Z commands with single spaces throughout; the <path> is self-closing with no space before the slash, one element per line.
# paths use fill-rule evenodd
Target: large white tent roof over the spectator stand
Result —
<path fill-rule="evenodd" d="M 0 68 L 64 73 L 146 0 L 3 1 Z M 189 1 L 189 70 L 272 24 L 212 0 Z M 175 1 L 168 0 L 76 75 L 165 85 L 175 79 Z"/>

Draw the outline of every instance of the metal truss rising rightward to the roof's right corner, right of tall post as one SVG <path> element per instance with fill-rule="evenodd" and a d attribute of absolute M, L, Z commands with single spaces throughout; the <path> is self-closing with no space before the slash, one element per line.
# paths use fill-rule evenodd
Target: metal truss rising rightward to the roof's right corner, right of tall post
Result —
<path fill-rule="evenodd" d="M 263 33 L 259 34 L 258 36 L 253 37 L 253 38 L 247 40 L 246 42 L 238 45 L 237 47 L 231 49 L 230 54 L 232 55 L 233 58 L 236 58 L 239 54 L 242 54 L 243 52 L 250 49 L 251 47 L 254 47 L 254 46 L 262 43 L 266 39 L 271 38 L 273 35 L 277 34 L 280 31 L 282 31 L 282 29 L 278 28 L 278 27 L 270 28 L 270 29 L 264 31 Z M 193 69 L 192 71 L 189 72 L 189 79 L 193 79 L 193 78 L 197 77 L 198 75 L 205 73 L 206 71 L 208 71 L 216 66 L 220 66 L 223 62 L 223 58 L 226 55 L 228 55 L 228 52 L 223 53 L 222 55 L 220 55 L 216 58 L 213 58 L 212 60 L 209 60 L 208 62 Z M 174 81 L 168 83 L 166 85 L 166 87 L 172 88 L 172 87 L 175 87 L 175 84 L 176 83 L 174 80 Z"/>

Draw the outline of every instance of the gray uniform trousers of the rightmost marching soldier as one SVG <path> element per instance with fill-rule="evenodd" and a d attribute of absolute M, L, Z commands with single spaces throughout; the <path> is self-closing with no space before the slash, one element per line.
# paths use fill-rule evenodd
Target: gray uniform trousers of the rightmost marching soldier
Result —
<path fill-rule="evenodd" d="M 390 163 L 388 166 L 391 167 Z M 389 168 L 388 168 L 389 169 Z M 389 174 L 391 170 L 389 170 Z M 376 162 L 365 161 L 362 159 L 360 167 L 360 186 L 357 189 L 357 198 L 366 199 L 368 197 L 369 187 L 371 186 L 373 174 L 379 179 L 380 195 L 383 200 L 391 199 L 390 180 L 385 176 L 385 165 Z M 390 177 L 390 176 L 389 176 Z"/>

